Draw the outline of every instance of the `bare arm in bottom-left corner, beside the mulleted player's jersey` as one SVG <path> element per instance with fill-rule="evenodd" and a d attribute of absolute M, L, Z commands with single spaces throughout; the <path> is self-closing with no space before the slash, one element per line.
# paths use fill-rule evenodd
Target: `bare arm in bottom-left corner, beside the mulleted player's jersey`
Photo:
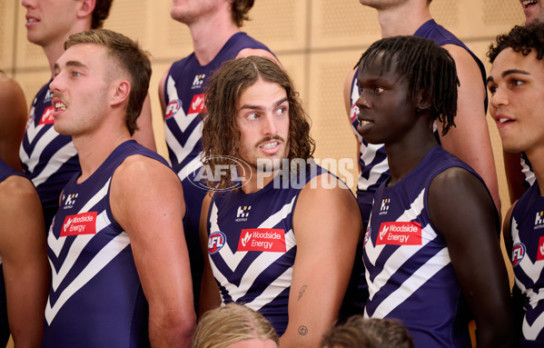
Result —
<path fill-rule="evenodd" d="M 0 254 L 9 326 L 15 347 L 39 347 L 51 270 L 42 204 L 22 176 L 0 184 Z"/>

